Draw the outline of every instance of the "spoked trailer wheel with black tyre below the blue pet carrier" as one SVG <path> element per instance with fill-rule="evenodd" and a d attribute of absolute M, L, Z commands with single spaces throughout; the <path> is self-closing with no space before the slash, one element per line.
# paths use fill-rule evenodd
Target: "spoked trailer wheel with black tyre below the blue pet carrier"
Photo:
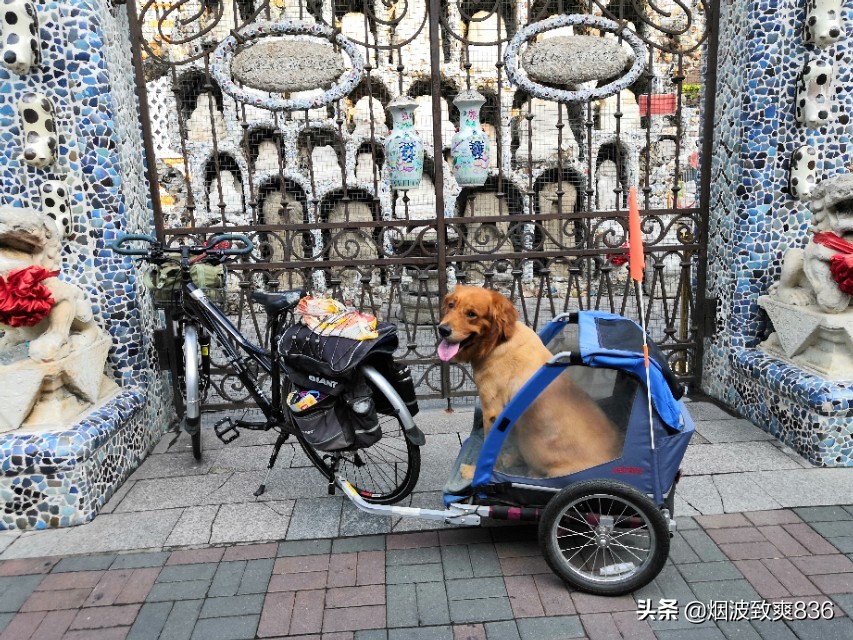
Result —
<path fill-rule="evenodd" d="M 590 480 L 554 496 L 539 522 L 548 565 L 569 585 L 619 596 L 651 582 L 669 555 L 666 519 L 622 482 Z"/>

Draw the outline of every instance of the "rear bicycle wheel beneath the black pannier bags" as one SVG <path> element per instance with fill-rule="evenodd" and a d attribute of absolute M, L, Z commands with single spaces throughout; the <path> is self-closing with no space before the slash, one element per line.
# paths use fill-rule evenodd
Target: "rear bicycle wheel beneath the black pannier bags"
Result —
<path fill-rule="evenodd" d="M 374 394 L 381 393 L 390 398 L 389 394 L 395 392 L 390 385 L 387 386 L 388 392 L 374 387 Z M 388 403 L 394 404 L 390 399 Z M 380 413 L 379 427 L 382 439 L 358 451 L 325 453 L 314 449 L 302 437 L 298 439 L 308 459 L 327 480 L 332 479 L 333 464 L 337 463 L 338 474 L 346 478 L 367 502 L 393 504 L 415 488 L 421 471 L 421 451 L 406 438 L 403 423 L 396 415 Z"/>

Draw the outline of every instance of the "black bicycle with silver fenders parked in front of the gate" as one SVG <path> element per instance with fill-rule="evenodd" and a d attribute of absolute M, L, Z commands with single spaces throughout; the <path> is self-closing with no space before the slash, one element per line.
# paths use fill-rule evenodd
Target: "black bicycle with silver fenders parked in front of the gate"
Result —
<path fill-rule="evenodd" d="M 127 248 L 129 242 L 145 242 L 148 247 Z M 230 243 L 243 246 L 233 248 Z M 227 243 L 227 246 L 226 246 Z M 336 474 L 346 472 L 358 493 L 374 504 L 398 502 L 414 489 L 420 473 L 420 446 L 424 436 L 415 425 L 405 402 L 394 387 L 374 367 L 363 364 L 360 371 L 367 378 L 375 394 L 384 396 L 385 406 L 392 409 L 380 415 L 382 438 L 369 448 L 355 451 L 321 452 L 309 444 L 282 402 L 284 384 L 290 384 L 286 372 L 279 362 L 278 340 L 280 331 L 291 326 L 285 322 L 292 320 L 293 309 L 307 295 L 302 289 L 282 292 L 253 292 L 252 302 L 261 305 L 267 314 L 270 331 L 270 349 L 264 349 L 249 341 L 240 330 L 196 286 L 191 274 L 191 256 L 193 262 L 207 261 L 222 264 L 232 256 L 247 255 L 252 252 L 251 240 L 241 234 L 221 234 L 211 238 L 204 245 L 163 246 L 156 238 L 144 234 L 124 235 L 109 247 L 116 253 L 138 256 L 150 264 L 162 265 L 167 262 L 180 264 L 180 286 L 176 290 L 177 304 L 174 321 L 178 327 L 177 336 L 183 353 L 182 370 L 173 363 L 172 375 L 180 381 L 181 392 L 185 399 L 184 429 L 192 439 L 193 455 L 201 457 L 201 400 L 204 389 L 210 380 L 210 341 L 214 337 L 225 354 L 229 365 L 243 383 L 255 404 L 261 410 L 265 420 L 233 420 L 222 418 L 213 427 L 216 435 L 224 443 L 232 442 L 240 434 L 240 429 L 278 431 L 278 437 L 267 464 L 263 482 L 255 492 L 260 496 L 266 490 L 269 474 L 272 471 L 282 445 L 290 436 L 296 438 L 311 463 L 325 476 L 329 483 L 329 492 L 334 493 Z M 177 256 L 176 258 L 172 256 Z M 257 372 L 263 371 L 270 378 L 270 396 L 264 391 Z M 176 398 L 176 405 L 180 400 Z M 179 414 L 181 408 L 178 407 Z M 384 420 L 384 422 L 382 421 Z"/>

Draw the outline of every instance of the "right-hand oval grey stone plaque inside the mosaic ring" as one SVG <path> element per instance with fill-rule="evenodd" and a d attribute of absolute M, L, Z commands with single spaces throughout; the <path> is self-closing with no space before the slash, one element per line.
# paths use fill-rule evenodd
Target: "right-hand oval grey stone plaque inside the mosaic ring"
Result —
<path fill-rule="evenodd" d="M 555 36 L 530 45 L 521 56 L 531 80 L 557 85 L 606 80 L 631 62 L 615 40 L 594 36 Z"/>

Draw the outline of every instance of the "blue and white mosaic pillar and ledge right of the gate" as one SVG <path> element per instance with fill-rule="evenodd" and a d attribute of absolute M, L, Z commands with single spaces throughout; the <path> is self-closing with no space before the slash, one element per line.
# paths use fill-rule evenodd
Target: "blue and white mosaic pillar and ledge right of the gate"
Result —
<path fill-rule="evenodd" d="M 756 348 L 771 330 L 758 296 L 778 279 L 785 250 L 806 240 L 810 213 L 787 193 L 792 151 L 818 150 L 819 179 L 851 164 L 853 11 L 845 8 L 846 37 L 819 50 L 803 42 L 805 4 L 721 3 L 708 234 L 708 296 L 719 302 L 704 386 L 812 463 L 853 466 L 851 385 L 827 383 Z M 829 123 L 807 131 L 794 119 L 794 100 L 809 56 L 833 62 L 835 95 Z"/>

